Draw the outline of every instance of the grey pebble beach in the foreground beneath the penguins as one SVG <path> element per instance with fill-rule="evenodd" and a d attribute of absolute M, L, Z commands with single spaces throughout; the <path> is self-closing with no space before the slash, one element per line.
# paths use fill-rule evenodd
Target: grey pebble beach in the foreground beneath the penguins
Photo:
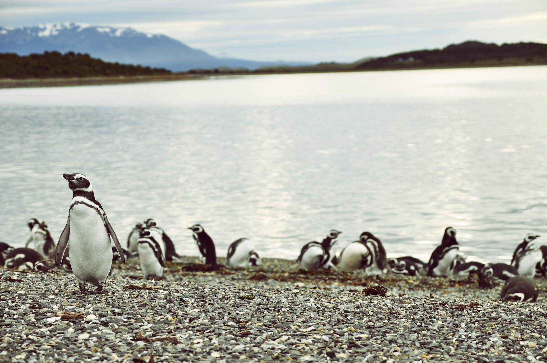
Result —
<path fill-rule="evenodd" d="M 219 259 L 224 264 L 225 259 Z M 502 282 L 168 263 L 144 280 L 114 264 L 106 294 L 72 274 L 0 272 L 2 362 L 547 361 L 547 280 L 537 302 L 504 302 Z"/>

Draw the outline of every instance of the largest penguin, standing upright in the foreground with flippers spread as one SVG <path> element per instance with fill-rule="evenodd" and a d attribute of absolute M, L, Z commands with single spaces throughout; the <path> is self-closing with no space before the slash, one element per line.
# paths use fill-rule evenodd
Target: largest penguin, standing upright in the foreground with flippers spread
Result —
<path fill-rule="evenodd" d="M 57 243 L 55 264 L 61 265 L 70 241 L 69 258 L 72 272 L 79 282 L 80 292 L 87 291 L 85 283 L 89 282 L 97 286 L 95 293 L 101 293 L 112 267 L 110 237 L 124 264 L 125 255 L 106 213 L 95 200 L 91 181 L 79 173 L 63 174 L 63 178 L 68 181 L 68 188 L 72 190 L 72 202 L 68 209 L 67 224 Z"/>

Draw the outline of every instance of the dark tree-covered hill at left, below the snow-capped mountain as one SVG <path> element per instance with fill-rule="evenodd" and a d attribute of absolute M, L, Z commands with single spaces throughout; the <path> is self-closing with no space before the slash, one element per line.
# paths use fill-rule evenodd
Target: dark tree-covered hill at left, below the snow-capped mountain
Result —
<path fill-rule="evenodd" d="M 117 77 L 171 74 L 164 68 L 121 65 L 104 62 L 89 54 L 45 51 L 44 54 L 19 56 L 0 53 L 0 78 Z"/>

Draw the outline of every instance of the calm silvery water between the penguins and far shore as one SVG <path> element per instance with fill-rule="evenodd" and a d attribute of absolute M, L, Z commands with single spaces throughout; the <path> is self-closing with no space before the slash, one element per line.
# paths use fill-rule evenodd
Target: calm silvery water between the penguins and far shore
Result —
<path fill-rule="evenodd" d="M 154 218 L 185 255 L 201 223 L 219 256 L 337 229 L 427 260 L 452 226 L 468 261 L 507 262 L 547 244 L 546 99 L 546 66 L 2 89 L 0 241 L 28 218 L 59 238 L 79 172 L 123 245 Z"/>

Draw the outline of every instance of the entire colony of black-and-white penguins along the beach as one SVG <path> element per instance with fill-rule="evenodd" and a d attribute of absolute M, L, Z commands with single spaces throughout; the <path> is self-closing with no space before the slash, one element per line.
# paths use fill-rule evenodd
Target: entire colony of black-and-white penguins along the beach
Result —
<path fill-rule="evenodd" d="M 74 274 L 81 292 L 87 292 L 85 284 L 91 283 L 97 286 L 95 292 L 100 293 L 103 292 L 113 260 L 125 263 L 126 259 L 138 255 L 144 277 L 157 279 L 163 276 L 166 261 L 180 259 L 172 240 L 153 219 L 137 223 L 127 238 L 127 249 L 123 249 L 104 209 L 95 200 L 90 180 L 80 173 L 63 174 L 63 178 L 68 181 L 73 195 L 67 224 L 59 242 L 55 245 L 43 221 L 30 219 L 27 225 L 31 237 L 26 247 L 14 249 L 0 242 L 0 267 L 41 268 L 40 265 L 47 260 L 54 260 L 57 266 Z M 195 224 L 188 228 L 200 250 L 202 262 L 216 264 L 213 240 L 203 226 Z M 313 241 L 305 244 L 296 261 L 306 270 L 336 266 L 341 271 L 362 270 L 365 274 L 417 276 L 425 272 L 426 276 L 441 277 L 476 273 L 481 279 L 505 280 L 502 298 L 511 301 L 536 301 L 538 292 L 532 278 L 536 274 L 547 274 L 547 246 L 534 247 L 533 241 L 539 237 L 534 233 L 528 233 L 517 246 L 510 265 L 465 262 L 465 258 L 458 254 L 456 230 L 452 227 L 445 229 L 441 244 L 435 248 L 427 263 L 412 256 L 387 259 L 382 242 L 370 232 L 361 233 L 358 241 L 351 242 L 336 255 L 334 245 L 340 233 L 330 230 L 321 243 Z M 28 248 L 32 242 L 34 249 Z M 260 257 L 249 239 L 240 238 L 231 243 L 227 264 L 255 266 L 260 264 Z"/>

